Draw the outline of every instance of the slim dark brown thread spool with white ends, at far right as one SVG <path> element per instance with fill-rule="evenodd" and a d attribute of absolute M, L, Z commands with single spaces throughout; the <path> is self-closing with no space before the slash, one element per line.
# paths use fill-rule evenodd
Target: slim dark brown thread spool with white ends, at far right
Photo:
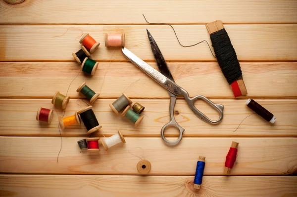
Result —
<path fill-rule="evenodd" d="M 276 121 L 276 117 L 274 117 L 272 113 L 270 113 L 267 109 L 265 109 L 262 105 L 260 105 L 253 99 L 247 99 L 246 104 L 267 122 L 271 122 L 273 124 Z"/>

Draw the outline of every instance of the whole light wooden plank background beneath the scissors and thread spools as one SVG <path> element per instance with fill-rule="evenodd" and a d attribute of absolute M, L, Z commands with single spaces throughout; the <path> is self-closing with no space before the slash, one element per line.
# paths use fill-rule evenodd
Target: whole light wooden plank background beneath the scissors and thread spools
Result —
<path fill-rule="evenodd" d="M 0 196 L 297 196 L 296 13 L 296 0 L 25 0 L 15 5 L 0 0 Z M 211 44 L 205 23 L 222 20 L 248 95 L 233 98 L 206 43 L 182 48 L 170 27 L 149 25 L 142 14 L 149 22 L 174 24 L 184 45 Z M 191 96 L 201 94 L 225 106 L 223 121 L 209 125 L 178 99 L 175 118 L 186 131 L 176 147 L 160 138 L 169 121 L 167 91 L 119 49 L 104 46 L 104 33 L 125 33 L 126 47 L 156 68 L 147 28 L 176 83 Z M 80 49 L 82 31 L 101 43 L 92 54 L 99 61 L 93 77 L 79 73 L 71 55 Z M 76 143 L 89 136 L 83 125 L 66 128 L 60 137 L 62 111 L 55 109 L 50 125 L 36 121 L 39 106 L 52 108 L 55 91 L 66 94 L 68 87 L 65 116 L 87 106 L 76 92 L 84 81 L 100 93 L 93 109 L 102 129 L 93 136 L 108 137 L 120 129 L 126 144 L 86 153 Z M 108 106 L 122 93 L 146 107 L 138 128 Z M 250 115 L 247 98 L 269 109 L 275 124 Z M 196 106 L 217 117 L 203 102 Z M 178 132 L 170 128 L 166 136 L 173 140 Z M 226 177 L 232 141 L 240 143 L 239 154 Z M 151 162 L 149 176 L 139 175 L 140 158 L 133 154 Z M 196 190 L 199 155 L 206 156 L 206 167 Z"/>

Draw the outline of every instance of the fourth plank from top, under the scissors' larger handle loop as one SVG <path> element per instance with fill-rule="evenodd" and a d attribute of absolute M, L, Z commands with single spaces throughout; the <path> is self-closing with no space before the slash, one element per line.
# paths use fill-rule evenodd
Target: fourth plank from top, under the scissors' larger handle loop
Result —
<path fill-rule="evenodd" d="M 108 106 L 114 99 L 98 99 L 93 103 L 93 110 L 102 126 L 99 132 L 93 135 L 110 136 L 118 129 L 125 136 L 160 136 L 160 130 L 169 122 L 169 99 L 132 99 L 146 108 L 143 112 L 144 119 L 134 128 L 133 124 L 125 117 L 117 116 Z M 271 111 L 277 121 L 275 124 L 266 122 L 254 113 L 245 104 L 246 100 L 213 99 L 216 103 L 225 106 L 224 119 L 218 125 L 210 125 L 200 120 L 188 107 L 185 100 L 178 99 L 175 107 L 175 119 L 184 128 L 184 136 L 191 137 L 297 137 L 297 100 L 296 99 L 256 99 L 258 103 Z M 80 105 L 79 105 L 79 104 Z M 0 135 L 16 136 L 59 136 L 58 116 L 53 113 L 50 125 L 36 121 L 38 108 L 42 106 L 51 108 L 50 99 L 1 99 L 0 100 Z M 87 105 L 82 101 L 71 99 L 66 108 L 65 117 L 73 115 Z M 199 110 L 212 119 L 218 114 L 203 102 L 197 105 Z M 62 115 L 62 112 L 59 112 Z M 246 119 L 245 119 L 246 118 Z M 245 119 L 245 120 L 244 120 Z M 244 121 L 243 121 L 244 120 Z M 242 122 L 243 121 L 243 122 Z M 240 123 L 242 124 L 240 125 Z M 240 125 L 240 126 L 239 126 Z M 236 130 L 236 128 L 238 129 Z M 84 125 L 69 126 L 61 131 L 63 136 L 87 136 Z M 178 130 L 168 128 L 166 136 L 178 136 Z"/>

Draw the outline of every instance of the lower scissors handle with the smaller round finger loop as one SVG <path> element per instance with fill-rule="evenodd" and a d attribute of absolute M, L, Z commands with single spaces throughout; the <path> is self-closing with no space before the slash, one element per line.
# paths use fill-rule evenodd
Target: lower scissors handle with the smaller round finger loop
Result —
<path fill-rule="evenodd" d="M 174 118 L 174 106 L 175 106 L 175 103 L 176 103 L 176 95 L 173 95 L 171 93 L 169 93 L 170 95 L 170 105 L 169 105 L 169 110 L 170 110 L 170 121 L 165 124 L 162 129 L 161 129 L 161 137 L 163 139 L 163 141 L 168 144 L 168 145 L 177 145 L 181 140 L 182 140 L 182 137 L 183 137 L 183 133 L 185 131 L 184 128 L 182 128 L 181 126 L 179 126 L 179 124 L 175 121 L 175 118 Z M 164 131 L 167 127 L 176 127 L 179 129 L 180 131 L 180 136 L 178 137 L 177 140 L 175 141 L 169 141 L 165 138 L 164 136 Z"/>

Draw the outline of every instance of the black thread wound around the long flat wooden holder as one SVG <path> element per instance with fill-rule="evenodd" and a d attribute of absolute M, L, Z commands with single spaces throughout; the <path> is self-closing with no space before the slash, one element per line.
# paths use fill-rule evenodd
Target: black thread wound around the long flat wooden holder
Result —
<path fill-rule="evenodd" d="M 212 47 L 217 61 L 229 85 L 239 79 L 242 79 L 243 74 L 240 64 L 226 30 L 221 29 L 210 34 L 210 40 L 212 42 Z"/>

